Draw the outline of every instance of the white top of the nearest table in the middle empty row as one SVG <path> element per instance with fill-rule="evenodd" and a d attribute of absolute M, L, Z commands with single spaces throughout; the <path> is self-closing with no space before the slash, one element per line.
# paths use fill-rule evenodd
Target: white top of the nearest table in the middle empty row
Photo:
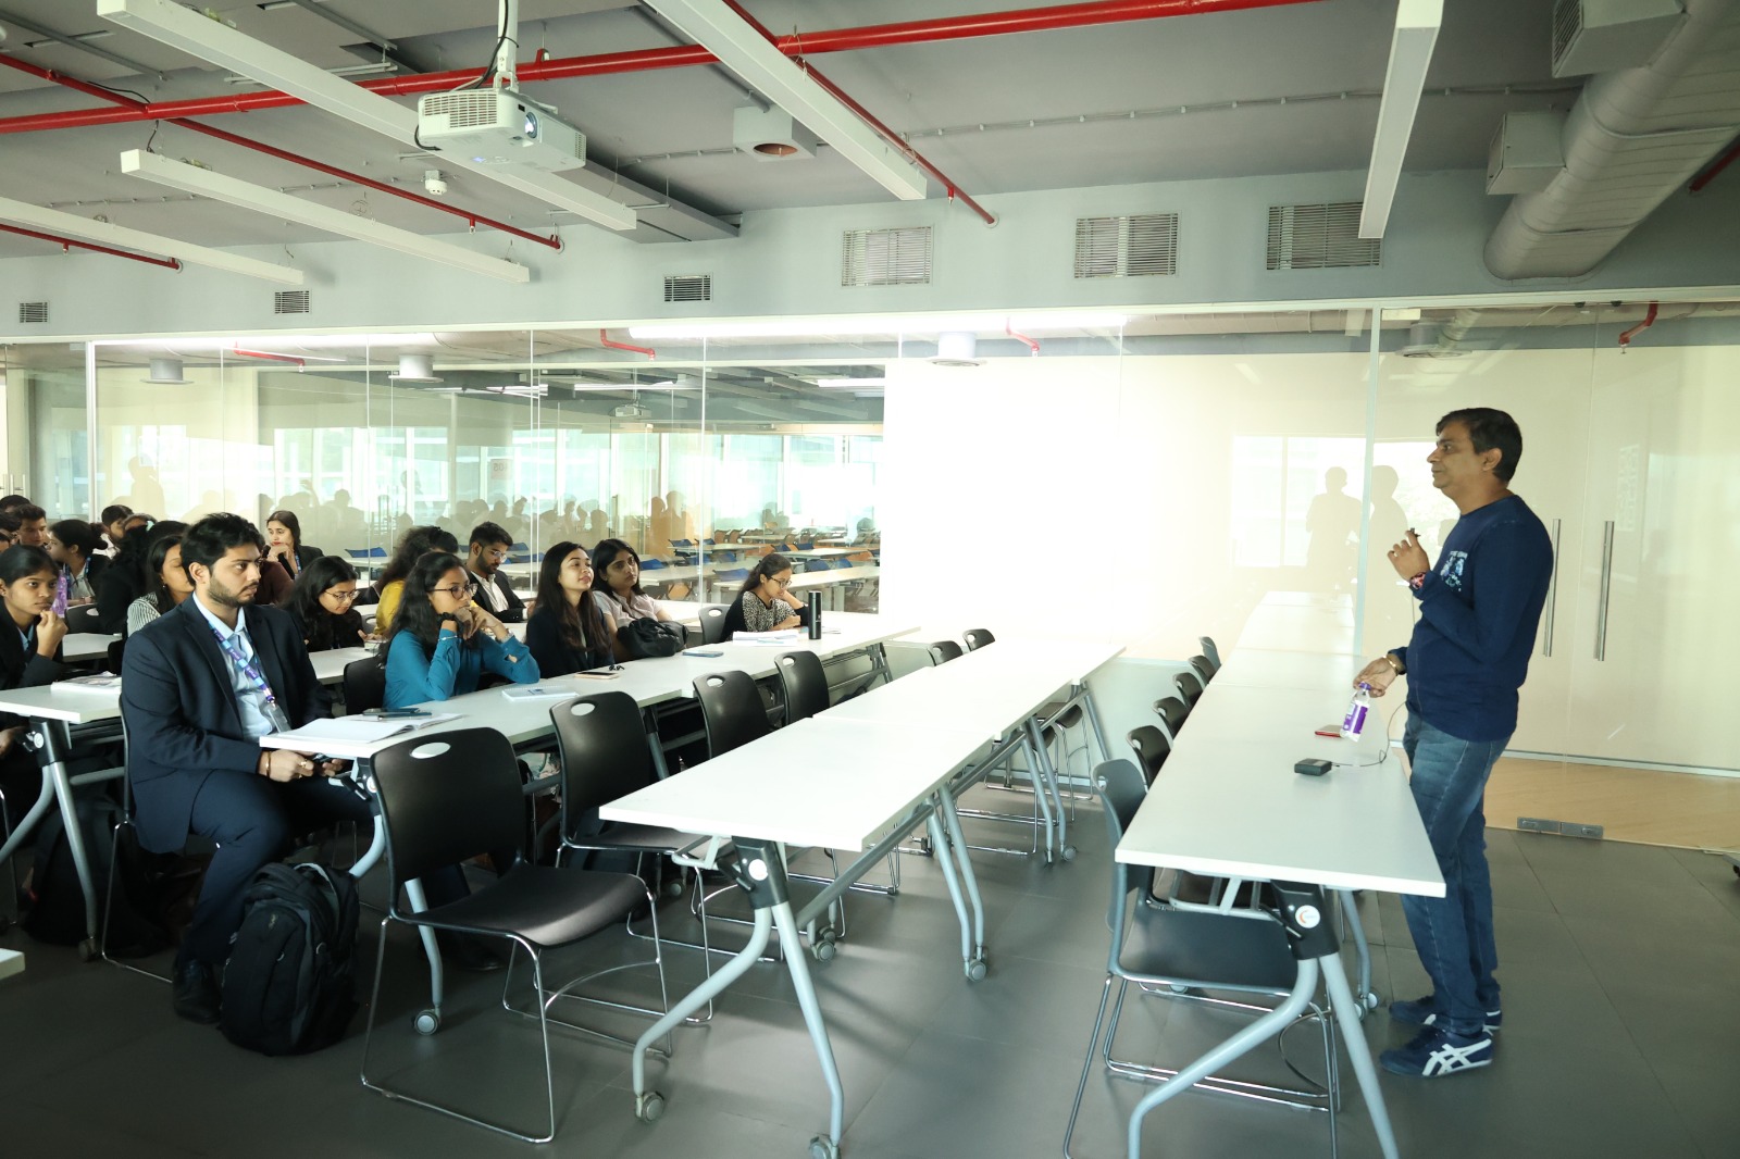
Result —
<path fill-rule="evenodd" d="M 606 821 L 861 851 L 967 764 L 983 738 L 799 720 L 599 809 Z"/>

